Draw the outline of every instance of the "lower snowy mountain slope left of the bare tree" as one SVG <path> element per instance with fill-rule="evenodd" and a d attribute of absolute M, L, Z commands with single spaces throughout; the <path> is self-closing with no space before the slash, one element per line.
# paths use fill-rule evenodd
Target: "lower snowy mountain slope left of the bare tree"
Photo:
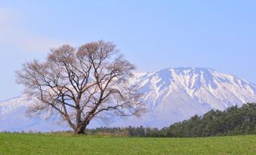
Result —
<path fill-rule="evenodd" d="M 44 118 L 29 117 L 26 114 L 27 108 L 34 104 L 35 99 L 29 96 L 21 96 L 0 103 L 0 131 L 29 131 L 49 132 L 69 129 L 54 123 L 54 118 L 45 120 Z"/>

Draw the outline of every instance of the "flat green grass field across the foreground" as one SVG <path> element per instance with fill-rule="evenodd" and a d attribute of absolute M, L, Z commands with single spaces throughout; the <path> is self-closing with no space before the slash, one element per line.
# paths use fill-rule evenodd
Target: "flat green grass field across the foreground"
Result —
<path fill-rule="evenodd" d="M 256 154 L 256 135 L 118 138 L 0 133 L 0 154 Z"/>

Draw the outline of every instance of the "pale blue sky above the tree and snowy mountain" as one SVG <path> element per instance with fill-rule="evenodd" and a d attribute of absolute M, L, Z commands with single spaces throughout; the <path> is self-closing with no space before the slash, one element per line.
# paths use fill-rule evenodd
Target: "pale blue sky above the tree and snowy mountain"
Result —
<path fill-rule="evenodd" d="M 0 1 L 0 101 L 50 47 L 115 42 L 137 71 L 197 66 L 256 84 L 256 1 Z"/>

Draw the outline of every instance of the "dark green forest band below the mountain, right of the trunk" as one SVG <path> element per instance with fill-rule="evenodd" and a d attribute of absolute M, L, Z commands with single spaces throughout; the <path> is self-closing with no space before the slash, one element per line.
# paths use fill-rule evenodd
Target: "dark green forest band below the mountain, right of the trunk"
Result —
<path fill-rule="evenodd" d="M 174 123 L 162 129 L 149 127 L 101 127 L 87 129 L 88 135 L 119 135 L 130 137 L 192 138 L 223 135 L 256 134 L 256 103 L 241 108 L 233 106 L 226 111 L 208 111 L 203 116 L 195 115 L 190 120 Z"/>

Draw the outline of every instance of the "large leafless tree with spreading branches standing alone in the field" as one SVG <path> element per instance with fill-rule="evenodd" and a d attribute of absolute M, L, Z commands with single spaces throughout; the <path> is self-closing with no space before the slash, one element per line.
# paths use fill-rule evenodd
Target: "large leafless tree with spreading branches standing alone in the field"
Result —
<path fill-rule="evenodd" d="M 39 101 L 29 112 L 57 112 L 83 134 L 103 114 L 127 117 L 145 111 L 137 87 L 128 84 L 134 68 L 111 42 L 91 42 L 77 50 L 66 44 L 52 49 L 45 62 L 26 62 L 17 71 L 17 83 Z"/>

